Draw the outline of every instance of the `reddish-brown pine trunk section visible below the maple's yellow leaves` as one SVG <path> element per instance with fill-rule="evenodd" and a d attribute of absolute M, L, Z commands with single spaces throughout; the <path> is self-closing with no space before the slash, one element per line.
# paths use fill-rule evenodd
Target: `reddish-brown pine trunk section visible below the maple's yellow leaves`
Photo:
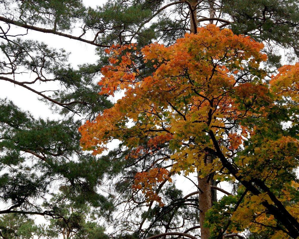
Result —
<path fill-rule="evenodd" d="M 205 164 L 212 163 L 212 156 L 207 155 L 205 159 Z M 208 239 L 210 237 L 210 229 L 203 226 L 205 221 L 205 213 L 212 207 L 213 202 L 217 200 L 216 191 L 211 188 L 214 185 L 213 174 L 209 174 L 204 178 L 199 178 L 200 171 L 198 171 L 198 187 L 202 191 L 198 195 L 198 205 L 199 205 L 199 224 L 201 239 Z"/>

